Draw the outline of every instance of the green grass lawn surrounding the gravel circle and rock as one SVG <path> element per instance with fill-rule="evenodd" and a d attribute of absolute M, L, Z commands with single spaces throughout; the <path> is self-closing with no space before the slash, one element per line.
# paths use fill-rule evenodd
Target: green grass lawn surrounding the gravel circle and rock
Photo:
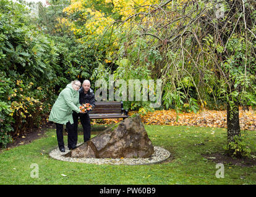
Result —
<path fill-rule="evenodd" d="M 145 126 L 153 145 L 169 150 L 172 159 L 139 166 L 70 163 L 50 158 L 57 147 L 55 129 L 46 137 L 0 153 L 0 184 L 255 184 L 256 167 L 224 164 L 224 178 L 216 178 L 216 163 L 202 154 L 223 151 L 226 129 L 186 126 Z M 213 132 L 214 131 L 214 132 Z M 256 132 L 248 131 L 256 152 Z M 67 144 L 67 136 L 64 137 Z M 82 135 L 79 135 L 82 142 Z M 205 145 L 197 146 L 197 143 Z M 38 165 L 38 178 L 30 177 Z M 66 175 L 66 177 L 61 174 Z"/>

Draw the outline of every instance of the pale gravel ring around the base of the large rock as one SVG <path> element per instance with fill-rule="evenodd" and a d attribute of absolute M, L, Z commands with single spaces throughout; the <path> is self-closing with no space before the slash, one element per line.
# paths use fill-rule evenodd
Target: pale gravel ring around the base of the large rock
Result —
<path fill-rule="evenodd" d="M 145 164 L 156 164 L 165 161 L 171 156 L 168 150 L 161 147 L 154 147 L 154 153 L 150 158 L 123 158 L 123 159 L 112 159 L 112 158 L 70 158 L 65 157 L 64 155 L 68 153 L 68 148 L 65 147 L 65 153 L 59 151 L 59 148 L 56 148 L 49 152 L 49 156 L 54 159 L 61 161 L 69 162 L 78 162 L 78 163 L 87 163 L 87 164 L 113 164 L 113 165 L 145 165 Z"/>

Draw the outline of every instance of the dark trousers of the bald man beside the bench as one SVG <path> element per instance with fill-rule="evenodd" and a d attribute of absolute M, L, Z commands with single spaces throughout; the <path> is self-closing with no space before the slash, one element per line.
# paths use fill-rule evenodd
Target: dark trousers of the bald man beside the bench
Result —
<path fill-rule="evenodd" d="M 77 144 L 77 126 L 79 118 L 83 127 L 83 142 L 87 142 L 91 138 L 91 121 L 89 114 L 73 112 L 75 144 Z"/>

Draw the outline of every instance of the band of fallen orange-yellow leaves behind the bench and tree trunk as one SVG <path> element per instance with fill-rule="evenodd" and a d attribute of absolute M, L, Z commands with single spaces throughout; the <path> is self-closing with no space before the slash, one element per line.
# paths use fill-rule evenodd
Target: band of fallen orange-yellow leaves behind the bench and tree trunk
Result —
<path fill-rule="evenodd" d="M 129 111 L 133 115 L 137 111 Z M 198 127 L 227 127 L 226 110 L 200 110 L 198 113 L 179 113 L 178 121 L 175 110 L 156 110 L 140 115 L 143 124 L 169 125 L 169 126 L 198 126 Z M 122 119 L 105 119 L 103 124 L 118 123 Z M 239 121 L 242 130 L 256 130 L 256 111 L 239 108 Z M 97 123 L 92 123 L 97 124 Z M 214 132 L 212 132 L 214 134 Z"/>

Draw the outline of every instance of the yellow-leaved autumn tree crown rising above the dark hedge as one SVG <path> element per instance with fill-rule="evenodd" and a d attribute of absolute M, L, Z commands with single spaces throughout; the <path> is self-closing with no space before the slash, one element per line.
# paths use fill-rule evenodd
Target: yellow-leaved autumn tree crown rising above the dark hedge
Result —
<path fill-rule="evenodd" d="M 97 50 L 111 56 L 113 51 L 118 49 L 116 40 L 121 36 L 121 32 L 115 26 L 116 22 L 125 20 L 131 14 L 147 10 L 154 2 L 158 1 L 72 0 L 63 12 L 69 16 L 66 23 L 81 43 L 93 41 L 91 47 L 96 47 Z"/>

